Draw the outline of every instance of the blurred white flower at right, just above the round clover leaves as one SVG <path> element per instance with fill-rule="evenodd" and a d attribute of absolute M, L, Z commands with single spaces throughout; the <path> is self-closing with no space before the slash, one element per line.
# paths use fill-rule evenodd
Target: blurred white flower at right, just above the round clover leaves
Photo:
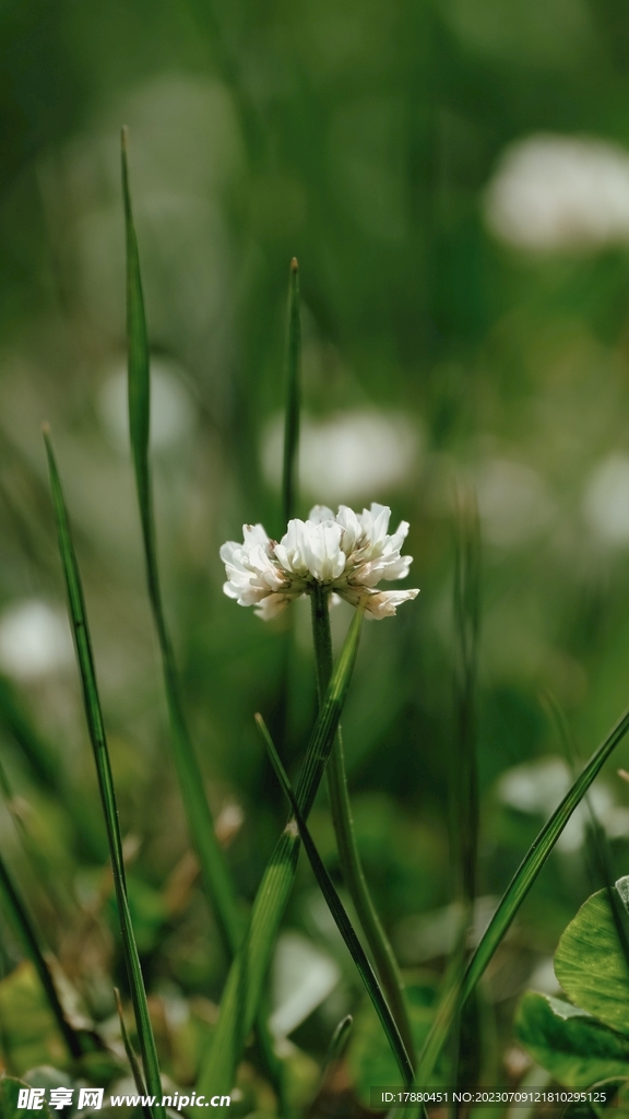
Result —
<path fill-rule="evenodd" d="M 498 781 L 498 797 L 504 805 L 517 808 L 520 812 L 550 816 L 565 797 L 572 777 L 566 763 L 561 758 L 542 758 L 538 761 L 526 762 L 503 773 Z M 618 834 L 618 821 L 613 815 L 613 799 L 610 790 L 599 782 L 590 789 L 590 802 L 597 818 L 613 835 Z M 590 822 L 590 811 L 583 801 L 575 808 L 565 828 L 557 839 L 561 850 L 579 850 L 585 838 L 585 828 Z"/>

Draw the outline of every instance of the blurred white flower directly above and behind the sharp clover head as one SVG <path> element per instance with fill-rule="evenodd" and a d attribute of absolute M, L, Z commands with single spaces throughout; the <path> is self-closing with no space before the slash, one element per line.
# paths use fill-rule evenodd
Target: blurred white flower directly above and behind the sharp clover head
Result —
<path fill-rule="evenodd" d="M 270 482 L 282 477 L 283 416 L 266 430 L 262 466 Z M 407 480 L 417 457 L 416 425 L 397 413 L 345 412 L 322 422 L 303 417 L 299 482 L 327 501 L 360 499 Z"/>

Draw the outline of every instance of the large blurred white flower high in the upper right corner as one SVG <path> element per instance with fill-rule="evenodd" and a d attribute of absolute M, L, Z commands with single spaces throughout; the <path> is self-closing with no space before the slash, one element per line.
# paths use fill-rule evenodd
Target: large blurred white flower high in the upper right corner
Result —
<path fill-rule="evenodd" d="M 589 137 L 538 134 L 507 149 L 485 195 L 498 237 L 534 252 L 629 242 L 629 153 Z"/>

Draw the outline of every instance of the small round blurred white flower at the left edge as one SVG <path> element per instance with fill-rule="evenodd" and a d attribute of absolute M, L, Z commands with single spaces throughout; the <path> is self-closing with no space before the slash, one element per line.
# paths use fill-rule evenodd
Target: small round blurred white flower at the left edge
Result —
<path fill-rule="evenodd" d="M 21 680 L 72 664 L 66 615 L 39 599 L 9 606 L 0 618 L 0 668 Z"/>

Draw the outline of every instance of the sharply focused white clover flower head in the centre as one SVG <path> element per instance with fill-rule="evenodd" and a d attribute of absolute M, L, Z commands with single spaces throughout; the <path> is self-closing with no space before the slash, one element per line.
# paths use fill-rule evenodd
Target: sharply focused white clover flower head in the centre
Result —
<path fill-rule="evenodd" d="M 317 584 L 353 606 L 364 603 L 372 618 L 394 614 L 420 592 L 376 590 L 381 580 L 404 579 L 412 563 L 400 554 L 409 524 L 403 520 L 389 536 L 389 517 L 391 509 L 377 502 L 362 514 L 341 505 L 336 517 L 316 505 L 308 520 L 289 521 L 279 544 L 262 525 L 244 525 L 243 543 L 227 540 L 220 548 L 227 575 L 223 590 L 241 606 L 255 605 L 265 620 Z"/>

